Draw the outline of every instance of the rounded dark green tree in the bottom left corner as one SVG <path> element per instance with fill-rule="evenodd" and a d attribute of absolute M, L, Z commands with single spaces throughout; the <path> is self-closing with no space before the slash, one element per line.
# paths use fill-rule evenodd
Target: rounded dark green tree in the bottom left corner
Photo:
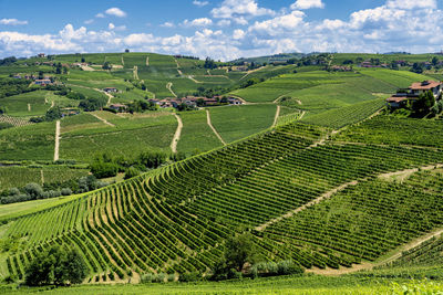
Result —
<path fill-rule="evenodd" d="M 73 249 L 52 246 L 39 253 L 24 271 L 29 286 L 80 284 L 87 275 L 82 255 Z"/>

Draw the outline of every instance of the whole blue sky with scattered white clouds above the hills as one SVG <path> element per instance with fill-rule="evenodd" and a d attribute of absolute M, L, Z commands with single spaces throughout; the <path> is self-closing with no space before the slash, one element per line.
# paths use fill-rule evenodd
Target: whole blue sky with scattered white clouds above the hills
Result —
<path fill-rule="evenodd" d="M 443 0 L 0 0 L 0 57 L 443 49 Z"/>

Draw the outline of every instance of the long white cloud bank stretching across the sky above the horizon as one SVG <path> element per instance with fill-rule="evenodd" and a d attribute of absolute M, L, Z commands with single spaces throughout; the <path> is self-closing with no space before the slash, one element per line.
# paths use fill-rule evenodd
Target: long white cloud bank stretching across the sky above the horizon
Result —
<path fill-rule="evenodd" d="M 128 48 L 131 51 L 233 60 L 296 51 L 436 52 L 443 44 L 443 11 L 433 7 L 433 1 L 411 2 L 414 8 L 410 9 L 410 4 L 402 6 L 405 2 L 387 0 L 383 6 L 354 11 L 342 20 L 309 21 L 300 10 L 280 10 L 278 14 L 261 14 L 254 22 L 253 15 L 260 14 L 257 12 L 260 8 L 254 8 L 257 1 L 237 2 L 240 4 L 238 13 L 225 10 L 225 14 L 218 14 L 224 17 L 217 21 L 210 18 L 188 20 L 188 28 L 198 28 L 190 34 L 158 36 L 150 33 L 154 28 L 146 27 L 141 28 L 143 31 L 140 33 L 127 34 L 120 32 L 115 22 L 103 31 L 66 24 L 54 34 L 0 32 L 0 56 L 33 55 L 39 52 L 120 52 Z M 241 8 L 246 2 L 253 3 L 253 9 Z M 238 27 L 238 22 L 245 27 L 229 28 Z M 250 24 L 246 27 L 248 22 Z M 209 24 L 218 27 L 210 27 L 210 30 L 207 27 Z M 168 22 L 164 27 L 176 25 Z M 214 28 L 223 28 L 223 31 Z"/>

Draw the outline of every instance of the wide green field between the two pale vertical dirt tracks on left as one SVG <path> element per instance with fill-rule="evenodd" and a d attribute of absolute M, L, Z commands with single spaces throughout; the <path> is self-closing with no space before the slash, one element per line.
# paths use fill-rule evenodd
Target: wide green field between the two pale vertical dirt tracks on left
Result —
<path fill-rule="evenodd" d="M 96 122 L 85 128 L 80 119 L 62 128 L 61 158 L 87 161 L 103 152 L 134 156 L 148 149 L 169 151 L 177 127 L 175 118 L 167 113 L 126 118 L 107 112 L 96 112 L 96 115 L 115 127 Z"/>

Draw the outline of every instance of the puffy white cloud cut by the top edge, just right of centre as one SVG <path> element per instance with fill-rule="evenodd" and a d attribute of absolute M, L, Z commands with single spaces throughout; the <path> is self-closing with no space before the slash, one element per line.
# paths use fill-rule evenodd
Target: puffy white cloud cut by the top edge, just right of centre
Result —
<path fill-rule="evenodd" d="M 256 0 L 225 0 L 218 8 L 210 11 L 216 19 L 231 19 L 235 17 L 274 15 L 270 9 L 260 8 Z"/>

